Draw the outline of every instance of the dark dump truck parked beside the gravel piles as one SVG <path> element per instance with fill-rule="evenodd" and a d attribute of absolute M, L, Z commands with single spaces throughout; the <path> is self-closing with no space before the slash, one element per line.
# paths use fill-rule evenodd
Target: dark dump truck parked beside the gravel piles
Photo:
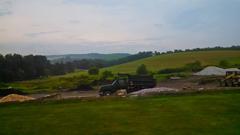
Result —
<path fill-rule="evenodd" d="M 156 80 L 151 75 L 118 74 L 112 84 L 100 87 L 99 95 L 108 96 L 117 90 L 126 89 L 127 93 L 156 86 Z"/>

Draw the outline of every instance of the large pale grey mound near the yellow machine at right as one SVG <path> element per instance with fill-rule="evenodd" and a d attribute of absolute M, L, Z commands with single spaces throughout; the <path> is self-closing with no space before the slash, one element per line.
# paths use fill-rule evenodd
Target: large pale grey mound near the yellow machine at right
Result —
<path fill-rule="evenodd" d="M 205 76 L 205 75 L 218 75 L 218 76 L 224 76 L 226 73 L 225 69 L 219 68 L 219 67 L 206 67 L 202 71 L 195 73 L 194 75 L 200 75 L 200 76 Z"/>

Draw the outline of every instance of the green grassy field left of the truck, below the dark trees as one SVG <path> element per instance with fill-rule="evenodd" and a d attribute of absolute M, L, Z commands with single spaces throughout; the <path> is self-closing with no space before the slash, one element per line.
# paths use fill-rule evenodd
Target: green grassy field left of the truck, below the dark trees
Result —
<path fill-rule="evenodd" d="M 87 77 L 87 78 L 86 78 Z M 75 89 L 80 83 L 98 79 L 97 75 L 89 76 L 85 71 L 78 71 L 66 75 L 50 76 L 30 81 L 13 82 L 7 84 L 26 93 L 55 92 L 58 90 Z"/>

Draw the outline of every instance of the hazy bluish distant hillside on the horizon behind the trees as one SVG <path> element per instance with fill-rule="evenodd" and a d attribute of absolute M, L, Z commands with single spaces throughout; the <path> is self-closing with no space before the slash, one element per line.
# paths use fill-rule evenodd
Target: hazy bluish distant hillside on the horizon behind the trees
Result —
<path fill-rule="evenodd" d="M 112 53 L 112 54 L 99 54 L 99 53 L 88 53 L 88 54 L 66 54 L 66 55 L 49 55 L 47 59 L 52 63 L 57 62 L 69 62 L 74 60 L 81 59 L 101 59 L 101 60 L 117 60 L 120 58 L 124 58 L 130 56 L 128 53 Z"/>

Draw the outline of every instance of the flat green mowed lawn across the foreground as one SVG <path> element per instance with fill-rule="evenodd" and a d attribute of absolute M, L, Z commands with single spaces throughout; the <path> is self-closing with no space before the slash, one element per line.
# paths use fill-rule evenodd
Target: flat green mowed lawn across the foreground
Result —
<path fill-rule="evenodd" d="M 239 135 L 240 91 L 0 105 L 0 135 Z"/>

